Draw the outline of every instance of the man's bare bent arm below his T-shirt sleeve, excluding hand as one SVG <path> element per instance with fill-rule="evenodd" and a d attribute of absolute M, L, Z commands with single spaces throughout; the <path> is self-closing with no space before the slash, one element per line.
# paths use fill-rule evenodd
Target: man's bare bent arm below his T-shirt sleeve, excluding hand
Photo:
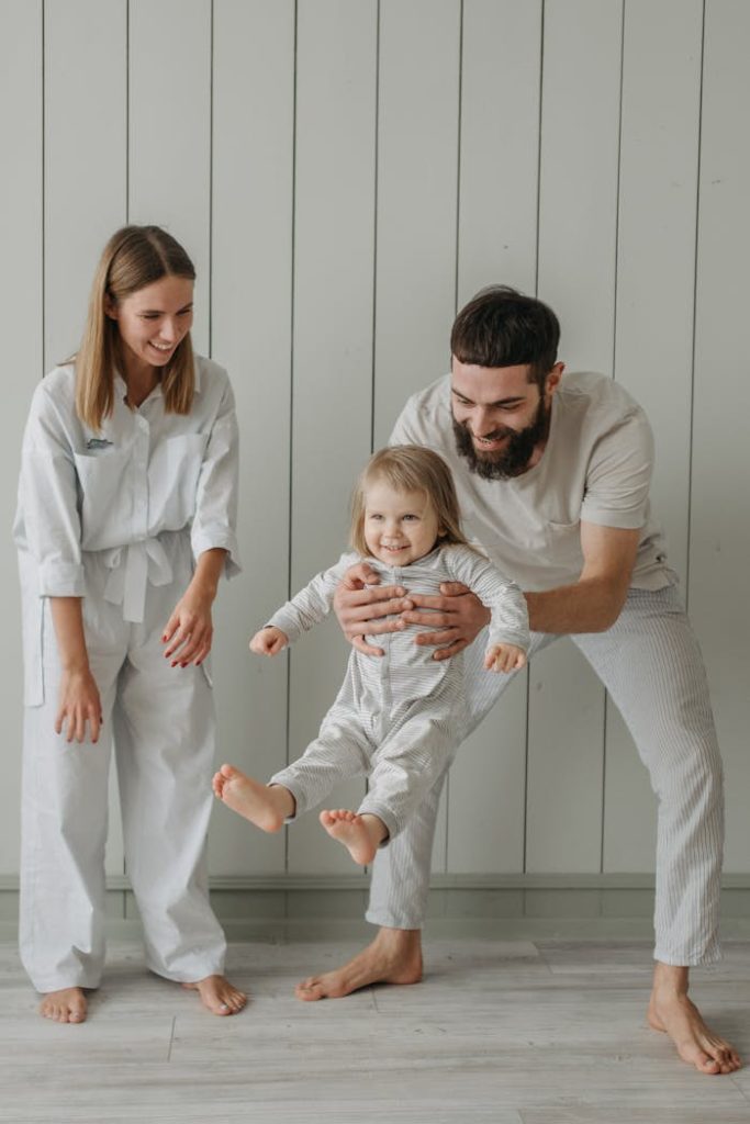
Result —
<path fill-rule="evenodd" d="M 606 632 L 625 604 L 641 537 L 640 529 L 580 525 L 584 569 L 578 581 L 543 593 L 526 593 L 534 632 Z"/>

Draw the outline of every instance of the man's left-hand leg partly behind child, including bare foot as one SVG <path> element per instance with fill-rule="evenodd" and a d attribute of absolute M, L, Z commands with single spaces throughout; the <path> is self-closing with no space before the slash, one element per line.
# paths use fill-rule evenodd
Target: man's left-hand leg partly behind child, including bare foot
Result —
<path fill-rule="evenodd" d="M 554 640 L 532 634 L 530 655 Z M 486 633 L 464 652 L 466 692 L 470 724 L 468 736 L 489 713 L 512 676 L 485 670 Z M 379 932 L 353 960 L 332 972 L 311 976 L 297 988 L 299 999 L 336 999 L 370 984 L 416 984 L 422 979 L 421 930 L 430 891 L 432 844 L 440 796 L 452 758 L 413 814 L 404 831 L 378 852 L 365 914 Z"/>

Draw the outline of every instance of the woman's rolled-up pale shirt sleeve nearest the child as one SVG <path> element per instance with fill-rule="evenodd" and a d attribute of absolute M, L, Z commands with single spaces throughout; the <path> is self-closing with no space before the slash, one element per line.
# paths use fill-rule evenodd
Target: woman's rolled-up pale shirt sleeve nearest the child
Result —
<path fill-rule="evenodd" d="M 227 380 L 204 453 L 190 535 L 196 559 L 217 547 L 227 552 L 227 578 L 241 570 L 236 533 L 238 474 L 237 418 Z"/>

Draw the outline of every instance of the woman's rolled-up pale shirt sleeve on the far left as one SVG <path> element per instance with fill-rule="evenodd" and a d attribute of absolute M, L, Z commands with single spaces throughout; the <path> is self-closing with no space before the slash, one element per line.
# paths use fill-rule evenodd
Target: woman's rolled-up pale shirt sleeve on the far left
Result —
<path fill-rule="evenodd" d="M 45 383 L 37 387 L 21 448 L 16 543 L 38 566 L 42 597 L 83 597 L 75 463 Z"/>

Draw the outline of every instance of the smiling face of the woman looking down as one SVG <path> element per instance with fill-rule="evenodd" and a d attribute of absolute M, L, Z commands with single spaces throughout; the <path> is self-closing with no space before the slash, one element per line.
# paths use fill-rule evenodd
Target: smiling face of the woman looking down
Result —
<path fill-rule="evenodd" d="M 126 366 L 164 366 L 192 327 L 189 278 L 164 277 L 115 303 L 107 316 L 117 321 Z"/>

